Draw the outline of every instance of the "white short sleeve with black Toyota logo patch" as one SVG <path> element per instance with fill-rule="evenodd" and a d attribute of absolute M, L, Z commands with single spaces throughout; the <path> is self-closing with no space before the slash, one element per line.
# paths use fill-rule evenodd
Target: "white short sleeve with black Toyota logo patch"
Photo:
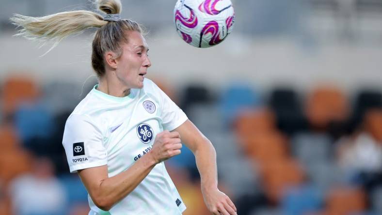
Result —
<path fill-rule="evenodd" d="M 71 173 L 107 164 L 102 132 L 88 116 L 71 115 L 65 124 L 63 145 Z"/>

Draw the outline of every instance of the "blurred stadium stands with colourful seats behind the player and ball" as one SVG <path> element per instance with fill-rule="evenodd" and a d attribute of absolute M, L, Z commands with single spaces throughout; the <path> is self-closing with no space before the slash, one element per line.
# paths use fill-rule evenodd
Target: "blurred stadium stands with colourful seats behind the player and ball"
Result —
<path fill-rule="evenodd" d="M 175 0 L 122 0 L 149 34 L 153 79 L 214 144 L 239 215 L 382 215 L 382 0 L 232 0 L 234 31 L 197 49 Z M 70 174 L 66 118 L 96 83 L 94 30 L 38 48 L 9 23 L 93 9 L 89 0 L 1 0 L 0 215 L 87 215 Z M 188 209 L 207 215 L 190 151 L 166 162 Z"/>

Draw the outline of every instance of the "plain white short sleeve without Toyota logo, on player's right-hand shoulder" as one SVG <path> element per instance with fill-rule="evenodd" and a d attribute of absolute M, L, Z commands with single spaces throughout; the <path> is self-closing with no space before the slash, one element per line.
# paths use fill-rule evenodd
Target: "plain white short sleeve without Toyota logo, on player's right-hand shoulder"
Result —
<path fill-rule="evenodd" d="M 155 87 L 159 92 L 162 107 L 160 117 L 162 118 L 163 129 L 172 131 L 186 122 L 188 119 L 187 115 L 157 85 L 155 85 Z"/>

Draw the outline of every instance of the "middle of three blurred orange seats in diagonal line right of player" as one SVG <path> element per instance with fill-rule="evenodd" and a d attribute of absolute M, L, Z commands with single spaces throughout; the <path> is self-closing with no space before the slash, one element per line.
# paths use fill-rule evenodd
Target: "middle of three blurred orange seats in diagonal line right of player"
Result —
<path fill-rule="evenodd" d="M 288 157 L 287 139 L 276 131 L 254 134 L 239 142 L 246 154 L 258 162 Z"/>

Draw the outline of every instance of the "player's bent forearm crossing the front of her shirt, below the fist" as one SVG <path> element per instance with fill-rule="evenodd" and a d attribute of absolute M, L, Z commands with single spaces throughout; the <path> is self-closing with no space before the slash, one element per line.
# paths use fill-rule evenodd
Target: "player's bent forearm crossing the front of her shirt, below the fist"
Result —
<path fill-rule="evenodd" d="M 99 184 L 97 197 L 103 210 L 110 210 L 112 205 L 125 198 L 155 167 L 156 162 L 148 153 L 136 161 L 127 170 L 107 178 Z M 101 208 L 102 209 L 102 208 Z"/>

